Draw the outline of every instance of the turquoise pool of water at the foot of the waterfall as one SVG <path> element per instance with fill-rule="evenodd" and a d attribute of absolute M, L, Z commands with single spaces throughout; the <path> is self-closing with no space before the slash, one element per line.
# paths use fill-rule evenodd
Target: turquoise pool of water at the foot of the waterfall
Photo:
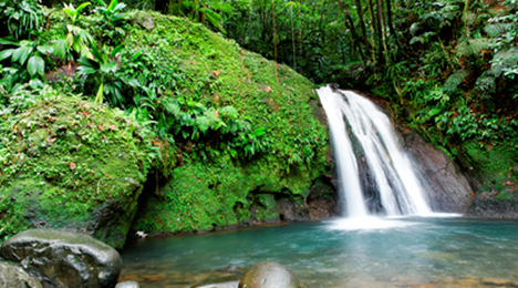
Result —
<path fill-rule="evenodd" d="M 272 260 L 307 287 L 518 287 L 518 222 L 382 223 L 354 229 L 340 219 L 145 239 L 122 253 L 122 279 L 143 288 L 191 287 L 237 280 L 253 264 Z"/>

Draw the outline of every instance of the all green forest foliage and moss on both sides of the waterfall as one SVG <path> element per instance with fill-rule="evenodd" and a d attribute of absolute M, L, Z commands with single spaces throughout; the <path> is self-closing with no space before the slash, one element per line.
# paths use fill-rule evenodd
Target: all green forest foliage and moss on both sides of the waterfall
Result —
<path fill-rule="evenodd" d="M 329 168 L 312 92 L 325 82 L 372 91 L 481 188 L 512 194 L 505 184 L 516 183 L 518 163 L 515 0 L 4 0 L 0 11 L 0 219 L 29 207 L 8 200 L 21 191 L 14 179 L 43 177 L 100 202 L 99 187 L 85 188 L 97 178 L 86 173 L 76 184 L 71 165 L 49 166 L 58 161 L 48 155 L 64 155 L 60 163 L 82 167 L 92 152 L 79 145 L 90 141 L 142 150 L 132 152 L 131 178 L 153 192 L 137 229 L 274 218 L 276 198 L 303 202 Z M 92 122 L 103 128 L 79 123 L 94 114 L 84 105 L 110 114 Z M 113 157 L 106 147 L 96 156 Z M 0 235 L 34 225 L 24 219 Z"/>

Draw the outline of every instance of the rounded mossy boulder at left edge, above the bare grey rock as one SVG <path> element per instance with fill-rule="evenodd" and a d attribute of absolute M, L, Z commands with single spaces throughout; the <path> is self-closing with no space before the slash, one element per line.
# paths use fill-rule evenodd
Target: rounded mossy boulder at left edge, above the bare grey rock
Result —
<path fill-rule="evenodd" d="M 0 115 L 0 235 L 59 228 L 122 247 L 145 181 L 143 130 L 49 88 L 11 103 Z"/>

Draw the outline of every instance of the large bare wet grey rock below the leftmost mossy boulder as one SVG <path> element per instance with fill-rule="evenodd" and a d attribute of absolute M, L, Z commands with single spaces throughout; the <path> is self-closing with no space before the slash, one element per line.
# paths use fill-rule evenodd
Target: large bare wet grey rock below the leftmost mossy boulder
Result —
<path fill-rule="evenodd" d="M 45 288 L 114 287 L 121 272 L 121 256 L 94 238 L 52 229 L 30 229 L 0 247 L 6 260 L 19 263 Z"/>

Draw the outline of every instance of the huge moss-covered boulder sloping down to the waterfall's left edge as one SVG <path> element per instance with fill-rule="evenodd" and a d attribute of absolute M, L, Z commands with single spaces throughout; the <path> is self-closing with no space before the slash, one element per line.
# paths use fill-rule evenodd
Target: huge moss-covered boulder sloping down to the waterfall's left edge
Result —
<path fill-rule="evenodd" d="M 169 96 L 204 103 L 215 114 L 235 107 L 252 131 L 265 128 L 268 150 L 225 145 L 237 135 L 175 136 L 174 145 L 162 147 L 170 177 L 153 179 L 133 228 L 176 233 L 278 222 L 279 199 L 304 205 L 313 182 L 329 171 L 312 83 L 201 24 L 148 16 L 155 29 L 134 24 L 126 48 L 170 68 L 177 82 Z"/>

